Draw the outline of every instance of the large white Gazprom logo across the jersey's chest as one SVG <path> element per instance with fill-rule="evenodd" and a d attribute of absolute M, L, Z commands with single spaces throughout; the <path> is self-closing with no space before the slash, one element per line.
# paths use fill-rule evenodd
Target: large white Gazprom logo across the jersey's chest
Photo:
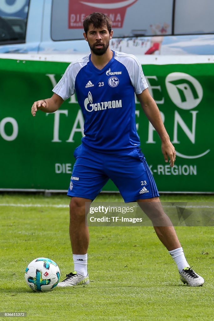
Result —
<path fill-rule="evenodd" d="M 92 94 L 89 91 L 88 97 L 84 101 L 84 106 L 87 111 L 98 111 L 98 110 L 106 110 L 111 108 L 122 108 L 122 100 L 111 100 L 111 101 L 102 101 L 93 104 Z"/>

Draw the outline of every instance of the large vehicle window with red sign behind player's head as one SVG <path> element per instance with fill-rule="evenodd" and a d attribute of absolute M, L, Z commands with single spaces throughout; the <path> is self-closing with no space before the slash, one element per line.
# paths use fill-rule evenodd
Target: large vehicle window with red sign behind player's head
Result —
<path fill-rule="evenodd" d="M 173 6 L 173 0 L 150 0 L 149 2 L 146 0 L 65 0 L 60 2 L 53 0 L 51 38 L 53 40 L 83 39 L 83 21 L 93 12 L 101 12 L 110 17 L 113 37 L 172 35 Z M 179 16 L 180 20 L 182 17 Z M 60 21 L 60 24 L 56 21 Z M 140 43 L 146 40 L 139 39 Z M 155 42 L 160 44 L 162 40 L 156 39 Z M 126 40 L 125 43 L 127 43 Z M 144 49 L 145 46 L 140 47 Z M 79 48 L 77 50 L 79 51 Z"/>

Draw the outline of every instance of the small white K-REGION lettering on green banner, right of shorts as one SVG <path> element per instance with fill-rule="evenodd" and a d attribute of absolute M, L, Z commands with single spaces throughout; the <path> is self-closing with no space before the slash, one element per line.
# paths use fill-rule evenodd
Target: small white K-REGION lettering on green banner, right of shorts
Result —
<path fill-rule="evenodd" d="M 196 165 L 174 165 L 170 167 L 170 165 L 157 165 L 156 169 L 152 169 L 153 165 L 149 166 L 149 169 L 154 175 L 157 173 L 158 175 L 197 175 L 197 166 Z"/>

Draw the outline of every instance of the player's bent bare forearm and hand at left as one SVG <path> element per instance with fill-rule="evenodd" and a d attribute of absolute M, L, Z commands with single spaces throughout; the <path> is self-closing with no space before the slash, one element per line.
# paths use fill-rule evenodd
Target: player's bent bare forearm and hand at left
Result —
<path fill-rule="evenodd" d="M 53 113 L 60 108 L 63 101 L 62 97 L 54 93 L 51 98 L 35 101 L 31 108 L 31 114 L 35 117 L 37 110 L 42 110 L 45 113 Z"/>

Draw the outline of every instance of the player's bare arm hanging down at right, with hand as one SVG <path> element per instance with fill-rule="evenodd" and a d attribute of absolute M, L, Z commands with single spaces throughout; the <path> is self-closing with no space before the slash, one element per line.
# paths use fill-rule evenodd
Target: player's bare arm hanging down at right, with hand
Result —
<path fill-rule="evenodd" d="M 163 125 L 158 106 L 150 95 L 148 89 L 145 89 L 141 94 L 137 95 L 137 98 L 141 103 L 146 117 L 149 119 L 150 123 L 160 136 L 162 142 L 161 150 L 165 161 L 167 162 L 169 157 L 170 166 L 173 167 L 176 156 L 175 148 L 170 142 L 169 135 L 167 134 L 166 128 Z"/>

